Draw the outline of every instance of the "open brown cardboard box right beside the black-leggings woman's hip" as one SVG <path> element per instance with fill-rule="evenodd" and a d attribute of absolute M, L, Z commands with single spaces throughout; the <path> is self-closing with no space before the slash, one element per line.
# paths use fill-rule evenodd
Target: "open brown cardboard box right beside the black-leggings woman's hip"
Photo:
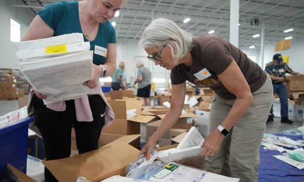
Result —
<path fill-rule="evenodd" d="M 102 133 L 110 133 L 117 135 L 134 135 L 140 134 L 140 123 L 148 123 L 156 117 L 151 115 L 141 115 L 143 101 L 138 100 L 111 100 L 111 105 L 115 119 Z M 127 110 L 136 109 L 137 116 L 127 120 Z"/>

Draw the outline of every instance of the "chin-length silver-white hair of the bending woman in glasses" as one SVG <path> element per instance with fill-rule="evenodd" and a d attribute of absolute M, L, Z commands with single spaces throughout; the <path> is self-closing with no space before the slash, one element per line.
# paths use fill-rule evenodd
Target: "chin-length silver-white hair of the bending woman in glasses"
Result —
<path fill-rule="evenodd" d="M 160 49 L 167 45 L 171 48 L 174 61 L 178 63 L 192 49 L 192 37 L 191 33 L 182 30 L 173 21 L 158 18 L 144 30 L 139 44 L 143 48 L 159 46 Z"/>

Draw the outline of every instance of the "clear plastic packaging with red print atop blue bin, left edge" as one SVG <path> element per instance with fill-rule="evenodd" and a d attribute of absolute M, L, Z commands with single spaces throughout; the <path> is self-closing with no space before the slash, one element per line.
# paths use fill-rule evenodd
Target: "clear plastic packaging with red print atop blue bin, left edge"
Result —
<path fill-rule="evenodd" d="M 4 128 L 6 126 L 12 125 L 27 117 L 28 117 L 27 106 L 9 112 L 6 115 L 0 117 L 0 128 Z"/>

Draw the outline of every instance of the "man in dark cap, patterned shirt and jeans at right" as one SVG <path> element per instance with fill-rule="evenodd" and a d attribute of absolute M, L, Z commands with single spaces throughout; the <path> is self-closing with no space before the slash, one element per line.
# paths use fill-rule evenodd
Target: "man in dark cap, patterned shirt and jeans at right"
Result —
<path fill-rule="evenodd" d="M 298 75 L 299 73 L 291 70 L 286 62 L 283 61 L 281 54 L 273 55 L 272 62 L 265 66 L 265 72 L 269 74 L 272 79 L 273 94 L 277 93 L 281 103 L 281 122 L 291 124 L 293 121 L 288 119 L 288 94 L 285 84 L 285 73 L 291 75 Z M 270 115 L 266 123 L 273 121 L 273 106 L 270 110 Z"/>

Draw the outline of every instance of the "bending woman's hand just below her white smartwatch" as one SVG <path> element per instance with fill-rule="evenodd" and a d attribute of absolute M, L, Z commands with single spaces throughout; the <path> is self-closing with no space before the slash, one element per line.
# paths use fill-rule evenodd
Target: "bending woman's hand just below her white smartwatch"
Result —
<path fill-rule="evenodd" d="M 215 155 L 220 150 L 223 139 L 224 136 L 221 134 L 221 132 L 218 129 L 215 129 L 206 137 L 202 145 L 203 150 L 200 155 Z"/>

